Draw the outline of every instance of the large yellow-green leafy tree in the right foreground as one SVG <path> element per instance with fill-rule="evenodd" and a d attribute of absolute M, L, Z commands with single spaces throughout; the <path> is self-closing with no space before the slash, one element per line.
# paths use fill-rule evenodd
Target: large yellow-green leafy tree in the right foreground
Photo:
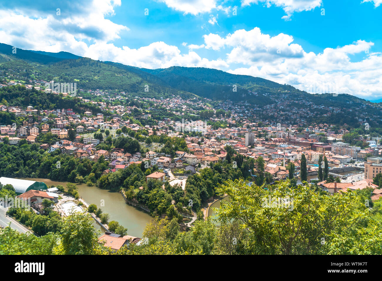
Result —
<path fill-rule="evenodd" d="M 315 192 L 309 184 L 291 188 L 288 180 L 269 190 L 248 186 L 243 180 L 228 180 L 218 184 L 217 193 L 230 197 L 215 209 L 217 221 L 223 225 L 236 220 L 246 230 L 248 243 L 242 242 L 243 253 L 344 253 L 341 246 L 346 242 L 350 243 L 346 248 L 356 253 L 382 252 L 374 245 L 374 239 L 382 245 L 382 229 L 375 227 L 363 199 L 355 192 L 328 196 Z M 360 244 L 357 239 L 368 232 L 373 242 Z"/>

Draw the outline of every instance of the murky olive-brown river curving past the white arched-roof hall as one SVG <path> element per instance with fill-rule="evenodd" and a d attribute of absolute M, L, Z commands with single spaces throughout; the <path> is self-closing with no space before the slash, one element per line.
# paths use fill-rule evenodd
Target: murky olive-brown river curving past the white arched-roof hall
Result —
<path fill-rule="evenodd" d="M 56 182 L 50 179 L 25 179 L 45 182 L 50 187 L 51 185 L 62 185 L 66 187 L 68 182 Z M 86 184 L 77 184 L 79 195 L 89 204 L 95 204 L 104 213 L 110 215 L 109 221 L 118 221 L 123 227 L 127 228 L 128 235 L 142 237 L 142 232 L 147 223 L 151 220 L 151 216 L 138 208 L 126 204 L 121 193 L 110 192 L 110 190 L 100 189 Z M 97 230 L 101 227 L 94 222 Z M 102 229 L 102 232 L 104 230 Z"/>

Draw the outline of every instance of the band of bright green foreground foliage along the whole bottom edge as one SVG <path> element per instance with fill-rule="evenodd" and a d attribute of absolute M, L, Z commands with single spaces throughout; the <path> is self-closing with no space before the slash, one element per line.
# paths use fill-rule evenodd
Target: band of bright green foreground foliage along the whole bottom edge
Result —
<path fill-rule="evenodd" d="M 153 218 L 142 234 L 147 243 L 112 253 L 97 242 L 89 214 L 76 213 L 63 220 L 57 234 L 35 237 L 10 227 L 1 230 L 0 253 L 382 254 L 382 200 L 369 209 L 362 192 L 328 195 L 311 185 L 293 187 L 289 180 L 268 190 L 228 180 L 218 184 L 217 192 L 230 198 L 215 210 L 219 226 L 211 219 L 197 220 L 190 231 L 179 232 L 176 218 Z"/>

